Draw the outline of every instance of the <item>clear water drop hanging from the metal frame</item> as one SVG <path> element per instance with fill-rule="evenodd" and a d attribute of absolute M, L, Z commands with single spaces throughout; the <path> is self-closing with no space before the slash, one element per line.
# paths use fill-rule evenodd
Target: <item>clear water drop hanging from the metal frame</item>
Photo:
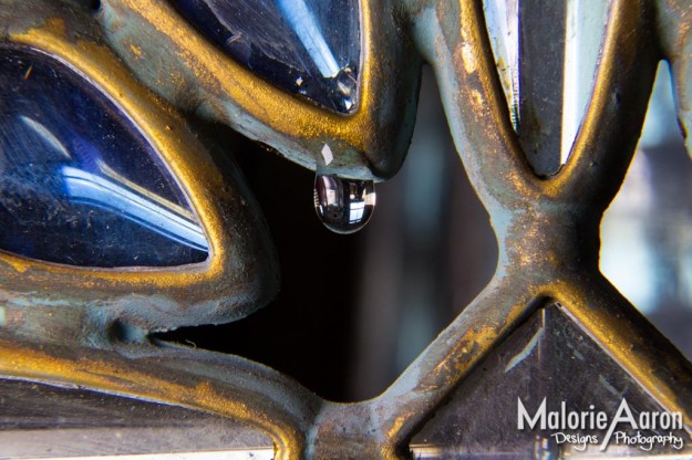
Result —
<path fill-rule="evenodd" d="M 342 179 L 334 175 L 314 178 L 314 210 L 335 233 L 353 233 L 370 220 L 375 207 L 372 180 Z"/>

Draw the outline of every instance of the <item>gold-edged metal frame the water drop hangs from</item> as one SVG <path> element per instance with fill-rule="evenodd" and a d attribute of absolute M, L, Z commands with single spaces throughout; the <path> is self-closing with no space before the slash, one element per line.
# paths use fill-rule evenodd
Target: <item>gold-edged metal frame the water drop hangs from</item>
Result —
<path fill-rule="evenodd" d="M 348 116 L 258 79 L 210 45 L 167 2 L 102 3 L 100 18 L 112 46 L 133 72 L 186 109 L 221 121 L 311 169 L 324 144 L 334 154 L 330 168 L 344 177 L 386 178 L 401 166 L 413 128 L 420 59 L 396 28 L 393 1 L 361 2 L 362 83 L 358 108 Z M 143 32 L 149 40 L 134 45 Z M 394 69 L 402 67 L 415 71 L 393 79 Z"/>

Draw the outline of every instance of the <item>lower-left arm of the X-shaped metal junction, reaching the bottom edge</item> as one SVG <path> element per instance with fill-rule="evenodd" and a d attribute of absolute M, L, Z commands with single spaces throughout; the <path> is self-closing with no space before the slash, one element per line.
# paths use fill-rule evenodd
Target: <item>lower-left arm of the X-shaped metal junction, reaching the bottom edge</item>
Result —
<path fill-rule="evenodd" d="M 540 302 L 508 279 L 488 288 L 380 397 L 322 407 L 311 433 L 316 459 L 407 458 L 407 440 L 457 383 Z"/>

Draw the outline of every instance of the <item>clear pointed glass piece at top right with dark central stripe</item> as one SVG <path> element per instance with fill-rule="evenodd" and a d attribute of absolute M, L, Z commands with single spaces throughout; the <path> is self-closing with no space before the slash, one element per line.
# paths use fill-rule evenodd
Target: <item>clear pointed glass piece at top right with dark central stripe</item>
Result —
<path fill-rule="evenodd" d="M 610 0 L 484 0 L 509 117 L 541 176 L 567 163 L 593 92 Z"/>

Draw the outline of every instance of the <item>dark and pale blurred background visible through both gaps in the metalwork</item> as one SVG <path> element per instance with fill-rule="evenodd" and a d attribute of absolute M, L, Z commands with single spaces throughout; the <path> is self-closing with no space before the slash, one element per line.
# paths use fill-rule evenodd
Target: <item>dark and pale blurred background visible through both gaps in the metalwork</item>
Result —
<path fill-rule="evenodd" d="M 330 232 L 312 206 L 313 172 L 214 126 L 265 212 L 281 292 L 239 322 L 159 334 L 238 354 L 322 397 L 382 393 L 489 281 L 497 244 L 456 155 L 430 69 L 403 169 L 376 186 L 370 223 Z M 675 119 L 668 64 L 638 151 L 601 226 L 601 269 L 692 357 L 692 165 Z"/>

